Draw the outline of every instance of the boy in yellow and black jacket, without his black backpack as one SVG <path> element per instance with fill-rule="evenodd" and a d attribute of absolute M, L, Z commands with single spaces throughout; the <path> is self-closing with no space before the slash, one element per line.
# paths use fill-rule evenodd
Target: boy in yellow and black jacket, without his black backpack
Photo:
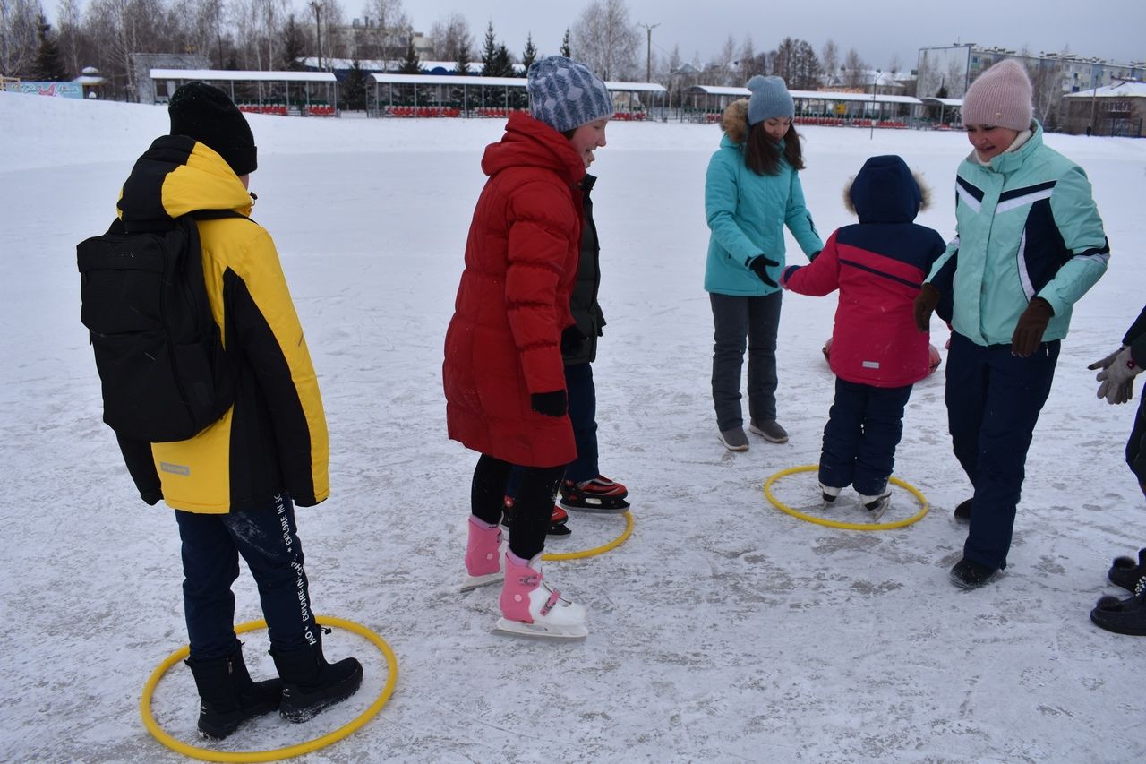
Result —
<path fill-rule="evenodd" d="M 171 134 L 135 163 L 119 216 L 131 229 L 201 210 L 234 213 L 196 225 L 207 301 L 236 373 L 235 402 L 190 439 L 119 436 L 119 445 L 143 500 L 175 510 L 198 726 L 225 738 L 275 709 L 292 722 L 313 717 L 358 689 L 362 666 L 327 663 L 303 570 L 293 505 L 330 494 L 327 421 L 274 242 L 248 217 L 253 135 L 227 94 L 203 83 L 180 87 L 168 112 Z M 230 591 L 238 555 L 258 582 L 281 681 L 253 683 L 243 664 Z"/>

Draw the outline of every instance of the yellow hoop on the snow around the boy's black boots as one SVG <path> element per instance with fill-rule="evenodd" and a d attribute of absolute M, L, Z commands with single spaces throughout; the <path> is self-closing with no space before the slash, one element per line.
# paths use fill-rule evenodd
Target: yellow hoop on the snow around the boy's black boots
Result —
<path fill-rule="evenodd" d="M 275 762 L 282 758 L 290 758 L 292 756 L 301 756 L 303 754 L 309 754 L 313 750 L 324 748 L 361 728 L 367 722 L 372 719 L 378 711 L 382 710 L 382 707 L 386 704 L 386 701 L 390 700 L 391 694 L 393 694 L 394 684 L 398 681 L 398 658 L 394 656 L 394 652 L 390 649 L 390 645 L 387 645 L 382 637 L 361 624 L 354 623 L 353 621 L 336 618 L 333 616 L 315 616 L 314 619 L 322 625 L 338 626 L 340 629 L 352 631 L 360 637 L 364 637 L 369 641 L 374 642 L 374 645 L 386 657 L 386 665 L 388 668 L 386 683 L 383 685 L 382 692 L 378 693 L 378 697 L 374 701 L 370 708 L 363 711 L 358 718 L 344 724 L 333 732 L 322 735 L 321 738 L 315 738 L 314 740 L 308 740 L 295 746 L 286 746 L 285 748 L 275 748 L 273 750 L 211 750 L 210 748 L 198 748 L 196 746 L 190 746 L 175 740 L 170 734 L 164 732 L 163 728 L 156 723 L 155 716 L 151 714 L 151 695 L 155 692 L 156 685 L 159 684 L 159 679 L 162 679 L 167 672 L 167 669 L 173 666 L 175 663 L 179 663 L 190 654 L 189 646 L 185 645 L 168 655 L 166 660 L 164 660 L 164 662 L 151 672 L 151 676 L 148 677 L 147 684 L 143 685 L 143 694 L 140 697 L 140 716 L 143 717 L 143 726 L 148 728 L 148 732 L 150 732 L 156 740 L 173 751 L 183 754 L 185 756 L 190 756 L 191 758 L 203 759 L 205 762 Z M 241 634 L 246 631 L 266 627 L 266 621 L 250 621 L 235 626 L 235 633 Z"/>

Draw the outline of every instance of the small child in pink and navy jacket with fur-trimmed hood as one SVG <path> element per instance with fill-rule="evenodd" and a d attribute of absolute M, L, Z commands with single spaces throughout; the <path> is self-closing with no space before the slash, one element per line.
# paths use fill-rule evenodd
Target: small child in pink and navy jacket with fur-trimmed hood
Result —
<path fill-rule="evenodd" d="M 898 156 L 868 159 L 843 197 L 859 223 L 833 233 L 810 265 L 785 268 L 780 286 L 813 296 L 840 290 L 819 486 L 825 507 L 854 486 L 874 521 L 890 504 L 911 388 L 931 371 L 929 335 L 916 328 L 912 304 L 947 245 L 915 223 L 927 190 Z"/>

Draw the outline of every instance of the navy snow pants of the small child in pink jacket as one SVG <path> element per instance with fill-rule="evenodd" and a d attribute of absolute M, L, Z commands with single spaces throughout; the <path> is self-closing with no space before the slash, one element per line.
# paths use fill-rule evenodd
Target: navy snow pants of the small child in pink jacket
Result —
<path fill-rule="evenodd" d="M 903 407 L 911 387 L 873 388 L 835 379 L 835 402 L 824 426 L 819 482 L 878 496 L 895 467 L 895 447 L 903 436 Z"/>

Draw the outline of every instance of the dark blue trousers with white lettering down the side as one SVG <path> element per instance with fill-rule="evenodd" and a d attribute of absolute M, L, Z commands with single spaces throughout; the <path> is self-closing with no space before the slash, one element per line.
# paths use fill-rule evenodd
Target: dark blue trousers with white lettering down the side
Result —
<path fill-rule="evenodd" d="M 258 584 L 270 646 L 288 652 L 317 642 L 290 497 L 223 515 L 176 509 L 175 521 L 183 543 L 183 610 L 193 661 L 226 657 L 237 645 L 230 586 L 238 578 L 240 554 Z"/>

